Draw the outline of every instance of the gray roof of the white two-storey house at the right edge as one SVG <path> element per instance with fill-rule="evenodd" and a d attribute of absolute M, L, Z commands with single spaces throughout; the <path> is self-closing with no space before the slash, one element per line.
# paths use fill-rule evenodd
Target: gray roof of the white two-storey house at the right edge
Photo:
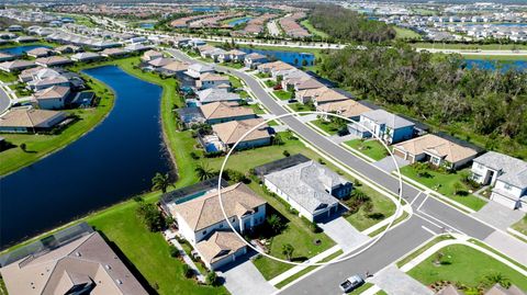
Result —
<path fill-rule="evenodd" d="M 489 151 L 474 159 L 474 162 L 481 163 L 496 171 L 502 171 L 497 179 L 508 184 L 526 188 L 527 186 L 527 162 L 495 151 Z"/>

